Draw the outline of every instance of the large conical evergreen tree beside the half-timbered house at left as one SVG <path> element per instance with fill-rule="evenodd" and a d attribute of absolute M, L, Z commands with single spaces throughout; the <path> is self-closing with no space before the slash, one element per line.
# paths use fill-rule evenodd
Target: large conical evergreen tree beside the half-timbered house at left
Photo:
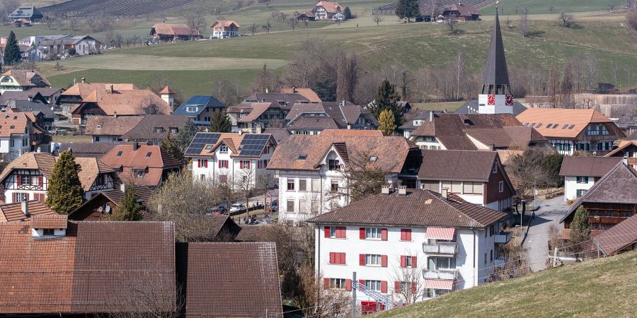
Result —
<path fill-rule="evenodd" d="M 84 189 L 79 181 L 80 165 L 71 151 L 64 151 L 53 166 L 45 203 L 58 214 L 69 214 L 84 202 Z"/>

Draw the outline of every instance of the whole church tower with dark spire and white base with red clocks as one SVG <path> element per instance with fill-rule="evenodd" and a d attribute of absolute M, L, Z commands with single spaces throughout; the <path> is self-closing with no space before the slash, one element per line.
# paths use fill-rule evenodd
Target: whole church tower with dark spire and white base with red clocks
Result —
<path fill-rule="evenodd" d="M 509 86 L 509 73 L 505 57 L 498 7 L 495 7 L 495 23 L 491 33 L 491 44 L 483 74 L 483 85 L 478 95 L 478 113 L 513 113 L 513 95 Z"/>

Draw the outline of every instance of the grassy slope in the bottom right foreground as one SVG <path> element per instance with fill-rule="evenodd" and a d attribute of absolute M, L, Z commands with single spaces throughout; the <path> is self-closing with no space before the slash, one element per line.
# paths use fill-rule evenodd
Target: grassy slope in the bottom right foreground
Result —
<path fill-rule="evenodd" d="M 637 317 L 637 252 L 562 266 L 377 317 Z"/>

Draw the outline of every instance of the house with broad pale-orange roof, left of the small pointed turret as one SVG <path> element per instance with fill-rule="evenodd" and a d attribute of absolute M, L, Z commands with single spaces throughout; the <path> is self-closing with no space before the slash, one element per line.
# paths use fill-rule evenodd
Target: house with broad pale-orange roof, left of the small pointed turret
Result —
<path fill-rule="evenodd" d="M 91 116 L 139 116 L 144 114 L 171 114 L 165 100 L 151 90 L 93 90 L 71 110 L 72 124 L 86 126 Z"/>

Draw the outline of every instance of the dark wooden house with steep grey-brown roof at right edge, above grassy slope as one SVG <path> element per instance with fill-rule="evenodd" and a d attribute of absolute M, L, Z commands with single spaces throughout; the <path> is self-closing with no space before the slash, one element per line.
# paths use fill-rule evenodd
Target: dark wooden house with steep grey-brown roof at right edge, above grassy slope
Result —
<path fill-rule="evenodd" d="M 570 206 L 560 223 L 564 223 L 562 237 L 569 237 L 570 223 L 575 211 L 583 206 L 588 213 L 592 236 L 620 224 L 637 211 L 637 176 L 624 163 L 617 163 L 604 177 Z"/>

